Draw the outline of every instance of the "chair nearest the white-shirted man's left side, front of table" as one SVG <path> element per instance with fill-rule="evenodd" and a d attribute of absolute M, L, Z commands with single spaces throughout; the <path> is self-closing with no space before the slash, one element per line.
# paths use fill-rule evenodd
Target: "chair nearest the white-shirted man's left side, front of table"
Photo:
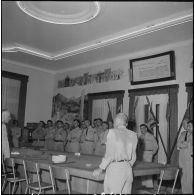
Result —
<path fill-rule="evenodd" d="M 52 168 L 52 175 L 53 175 L 53 183 L 55 183 L 55 179 L 61 179 L 61 180 L 65 180 L 67 185 L 67 189 L 57 191 L 56 184 L 54 184 L 56 194 L 71 194 L 71 193 L 81 194 L 79 192 L 72 191 L 70 189 L 70 174 L 68 169 L 64 167 L 56 167 L 56 166 L 52 166 L 51 168 Z"/>

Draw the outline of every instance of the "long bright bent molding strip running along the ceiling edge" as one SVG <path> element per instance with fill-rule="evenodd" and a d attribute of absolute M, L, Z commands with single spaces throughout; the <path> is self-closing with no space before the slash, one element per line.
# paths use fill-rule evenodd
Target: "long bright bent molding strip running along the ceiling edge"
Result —
<path fill-rule="evenodd" d="M 193 21 L 193 10 L 190 10 L 187 13 L 177 16 L 177 17 L 168 18 L 164 21 L 152 22 L 149 25 L 145 24 L 141 28 L 136 29 L 134 31 L 132 31 L 132 29 L 129 29 L 129 32 L 126 32 L 125 34 L 121 33 L 120 35 L 117 35 L 117 36 L 113 35 L 111 38 L 107 38 L 105 40 L 97 40 L 93 43 L 88 43 L 88 45 L 86 46 L 78 47 L 76 49 L 72 49 L 69 51 L 64 51 L 62 53 L 58 53 L 55 55 L 51 53 L 46 53 L 44 51 L 28 48 L 18 43 L 13 44 L 12 46 L 2 46 L 2 52 L 23 52 L 23 53 L 41 57 L 47 60 L 56 61 L 56 60 L 70 57 L 70 56 L 78 55 L 78 54 L 81 54 L 87 51 L 95 50 L 101 47 L 106 47 L 108 45 L 112 45 L 118 42 L 133 39 L 139 36 L 144 36 L 146 34 L 159 31 L 165 28 L 169 28 L 172 26 L 176 26 L 182 23 L 186 23 L 189 21 Z"/>

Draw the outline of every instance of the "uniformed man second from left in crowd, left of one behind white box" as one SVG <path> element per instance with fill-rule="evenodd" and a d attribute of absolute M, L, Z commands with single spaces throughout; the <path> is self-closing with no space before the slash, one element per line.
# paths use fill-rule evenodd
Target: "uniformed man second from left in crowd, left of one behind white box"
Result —
<path fill-rule="evenodd" d="M 52 120 L 47 120 L 47 125 L 45 128 L 45 148 L 48 150 L 54 150 L 54 135 L 55 135 L 55 126 L 53 125 Z"/>

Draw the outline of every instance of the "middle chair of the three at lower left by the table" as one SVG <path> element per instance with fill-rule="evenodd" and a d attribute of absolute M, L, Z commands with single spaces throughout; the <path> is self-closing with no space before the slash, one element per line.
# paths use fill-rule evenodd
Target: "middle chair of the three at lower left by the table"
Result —
<path fill-rule="evenodd" d="M 42 182 L 40 178 L 40 163 L 32 162 L 32 161 L 24 161 L 24 172 L 25 172 L 25 178 L 27 182 L 25 194 L 27 192 L 31 193 L 31 190 L 38 191 L 38 194 L 40 194 L 42 191 L 45 192 L 45 190 L 53 189 L 53 192 L 55 192 L 53 179 L 52 179 L 52 173 L 51 173 L 51 167 L 49 165 L 44 164 L 44 167 L 48 166 L 48 170 L 50 173 L 51 178 L 51 184 Z M 33 173 L 37 176 L 37 181 L 32 181 L 30 178 L 30 173 Z"/>

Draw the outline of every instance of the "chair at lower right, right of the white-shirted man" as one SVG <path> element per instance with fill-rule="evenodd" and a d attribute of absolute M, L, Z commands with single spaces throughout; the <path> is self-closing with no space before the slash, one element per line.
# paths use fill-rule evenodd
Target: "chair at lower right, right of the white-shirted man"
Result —
<path fill-rule="evenodd" d="M 175 184 L 177 182 L 179 171 L 180 171 L 179 167 L 171 167 L 171 168 L 165 168 L 161 170 L 160 182 L 157 188 L 141 187 L 139 189 L 136 189 L 136 193 L 137 194 L 173 194 L 175 190 Z M 171 181 L 171 180 L 174 180 L 172 188 L 171 188 L 171 192 L 168 191 L 167 187 L 162 189 L 162 182 Z"/>

